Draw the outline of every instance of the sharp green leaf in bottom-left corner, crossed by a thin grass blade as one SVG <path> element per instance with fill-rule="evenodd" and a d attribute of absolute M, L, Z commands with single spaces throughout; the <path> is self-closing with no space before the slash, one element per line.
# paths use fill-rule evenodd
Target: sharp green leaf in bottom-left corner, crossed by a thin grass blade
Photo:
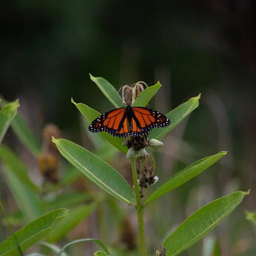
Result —
<path fill-rule="evenodd" d="M 22 251 L 28 249 L 30 246 L 38 242 L 43 238 L 55 222 L 58 222 L 65 216 L 67 216 L 67 209 L 58 209 L 49 212 L 46 215 L 30 222 L 25 227 L 15 232 L 15 236 L 20 245 Z M 19 255 L 15 241 L 12 236 L 3 241 L 0 244 L 0 255 L 1 256 L 16 256 Z"/>

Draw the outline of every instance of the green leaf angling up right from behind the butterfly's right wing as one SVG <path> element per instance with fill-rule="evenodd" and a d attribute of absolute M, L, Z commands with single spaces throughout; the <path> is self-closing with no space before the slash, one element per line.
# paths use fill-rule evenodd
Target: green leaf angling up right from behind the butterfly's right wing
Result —
<path fill-rule="evenodd" d="M 166 116 L 170 119 L 171 124 L 167 127 L 153 129 L 148 135 L 148 138 L 159 140 L 168 134 L 169 131 L 172 131 L 172 129 L 175 128 L 184 118 L 186 118 L 189 113 L 199 106 L 200 96 L 201 94 L 189 99 L 187 102 L 169 112 Z"/>

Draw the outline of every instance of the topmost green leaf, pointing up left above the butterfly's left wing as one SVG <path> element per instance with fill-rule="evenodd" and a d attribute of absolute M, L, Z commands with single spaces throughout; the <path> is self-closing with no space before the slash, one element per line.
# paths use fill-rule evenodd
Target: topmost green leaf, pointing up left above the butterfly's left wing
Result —
<path fill-rule="evenodd" d="M 90 79 L 97 84 L 102 93 L 115 106 L 115 108 L 122 108 L 122 99 L 116 91 L 115 87 L 102 77 L 94 77 L 90 74 Z"/>

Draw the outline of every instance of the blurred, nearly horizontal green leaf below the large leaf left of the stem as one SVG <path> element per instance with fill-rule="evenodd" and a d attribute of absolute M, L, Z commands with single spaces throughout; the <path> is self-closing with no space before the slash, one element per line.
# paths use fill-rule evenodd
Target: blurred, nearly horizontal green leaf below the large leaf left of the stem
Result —
<path fill-rule="evenodd" d="M 50 202 L 48 201 L 47 207 L 49 207 L 50 210 L 55 210 L 63 207 L 69 208 L 75 204 L 79 204 L 79 203 L 83 203 L 91 200 L 92 200 L 92 197 L 89 194 L 68 192 L 64 195 L 58 196 L 57 198 L 55 198 Z"/>

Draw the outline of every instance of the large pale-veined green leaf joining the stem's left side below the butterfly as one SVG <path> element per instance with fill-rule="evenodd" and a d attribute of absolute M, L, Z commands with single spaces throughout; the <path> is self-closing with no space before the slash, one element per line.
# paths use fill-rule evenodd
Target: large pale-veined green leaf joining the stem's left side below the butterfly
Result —
<path fill-rule="evenodd" d="M 60 153 L 90 180 L 109 194 L 134 204 L 134 194 L 127 181 L 115 169 L 81 146 L 64 139 L 52 139 Z"/>

